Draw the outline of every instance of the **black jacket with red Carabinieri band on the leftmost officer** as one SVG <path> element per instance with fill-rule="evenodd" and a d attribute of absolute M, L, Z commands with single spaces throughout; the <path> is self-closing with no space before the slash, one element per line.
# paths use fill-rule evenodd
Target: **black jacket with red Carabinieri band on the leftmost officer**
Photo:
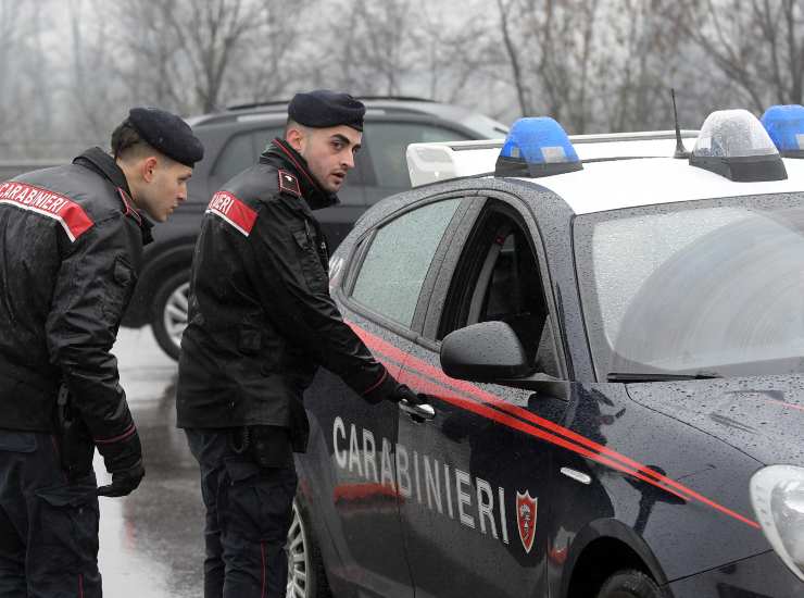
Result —
<path fill-rule="evenodd" d="M 102 453 L 134 435 L 110 350 L 149 229 L 99 148 L 0 183 L 0 428 L 53 432 L 63 382 Z"/>

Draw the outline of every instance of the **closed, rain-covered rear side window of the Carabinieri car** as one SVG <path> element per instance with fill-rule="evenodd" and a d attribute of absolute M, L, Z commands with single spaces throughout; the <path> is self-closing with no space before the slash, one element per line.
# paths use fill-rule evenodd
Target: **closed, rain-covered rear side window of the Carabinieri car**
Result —
<path fill-rule="evenodd" d="M 354 284 L 352 297 L 410 327 L 427 271 L 460 199 L 430 203 L 377 231 Z"/>

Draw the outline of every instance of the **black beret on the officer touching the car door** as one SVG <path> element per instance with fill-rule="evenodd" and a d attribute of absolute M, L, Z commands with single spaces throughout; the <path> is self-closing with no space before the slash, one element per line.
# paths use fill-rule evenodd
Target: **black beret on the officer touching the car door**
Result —
<path fill-rule="evenodd" d="M 317 89 L 297 94 L 288 104 L 288 116 L 300 125 L 325 128 L 346 125 L 363 130 L 366 107 L 349 94 Z"/>

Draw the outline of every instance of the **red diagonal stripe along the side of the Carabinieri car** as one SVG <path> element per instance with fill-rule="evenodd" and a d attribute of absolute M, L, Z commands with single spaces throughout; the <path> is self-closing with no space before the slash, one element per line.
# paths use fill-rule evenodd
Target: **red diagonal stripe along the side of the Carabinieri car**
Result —
<path fill-rule="evenodd" d="M 641 479 L 675 496 L 678 496 L 679 498 L 686 500 L 698 500 L 699 502 L 712 507 L 713 509 L 720 511 L 721 513 L 727 514 L 733 519 L 737 519 L 738 521 L 741 521 L 748 525 L 751 525 L 752 527 L 755 527 L 757 530 L 759 528 L 759 524 L 755 521 L 752 521 L 741 515 L 740 513 L 737 513 L 731 509 L 728 509 L 727 507 L 724 507 L 723 504 L 719 504 L 706 498 L 705 496 L 700 495 L 699 493 L 692 490 L 683 484 L 676 482 L 675 479 L 661 475 L 659 473 L 653 471 L 649 466 L 638 461 L 635 461 L 633 459 L 620 454 L 619 452 L 603 445 L 600 445 L 587 438 L 586 436 L 581 436 L 564 426 L 555 424 L 550 420 L 540 418 L 539 415 L 536 415 L 527 409 L 510 404 L 499 397 L 495 397 L 494 395 L 491 395 L 482 390 L 481 388 L 478 388 L 474 384 L 451 378 L 442 371 L 434 367 L 429 363 L 426 363 L 425 361 L 422 361 L 411 354 L 399 350 L 397 347 L 386 342 L 381 338 L 372 335 L 356 324 L 349 322 L 349 325 L 352 326 L 355 333 L 370 349 L 382 353 L 384 356 L 387 356 L 393 361 L 405 362 L 411 370 L 410 374 L 414 375 L 418 381 L 430 385 L 431 389 L 435 388 L 436 391 L 442 391 L 443 389 L 458 391 L 465 397 L 468 397 L 468 400 L 466 400 L 461 399 L 460 397 L 448 397 L 441 393 L 439 398 L 447 400 L 448 402 L 473 411 L 479 415 L 492 419 L 499 423 L 502 423 L 504 425 L 507 425 L 508 427 L 513 427 L 531 436 L 540 437 L 551 444 L 561 446 L 563 448 L 566 448 L 567 450 L 592 459 L 593 461 L 627 473 L 633 477 L 637 477 L 638 479 Z M 427 376 L 430 379 L 423 379 L 420 377 L 423 375 Z M 495 409 L 492 409 L 491 407 Z M 501 413 L 501 411 L 504 411 L 505 413 Z M 527 422 L 531 422 L 532 424 L 539 425 L 550 432 L 535 427 L 527 422 L 523 422 L 522 420 L 527 420 Z"/>

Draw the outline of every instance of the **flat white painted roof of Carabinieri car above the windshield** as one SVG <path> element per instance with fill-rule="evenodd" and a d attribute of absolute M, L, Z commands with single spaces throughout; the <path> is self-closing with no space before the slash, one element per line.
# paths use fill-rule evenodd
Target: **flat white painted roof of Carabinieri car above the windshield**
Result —
<path fill-rule="evenodd" d="M 684 159 L 648 158 L 583 164 L 583 170 L 540 178 L 523 178 L 547 187 L 576 214 L 637 205 L 804 191 L 804 160 L 783 159 L 786 180 L 734 183 Z"/>

